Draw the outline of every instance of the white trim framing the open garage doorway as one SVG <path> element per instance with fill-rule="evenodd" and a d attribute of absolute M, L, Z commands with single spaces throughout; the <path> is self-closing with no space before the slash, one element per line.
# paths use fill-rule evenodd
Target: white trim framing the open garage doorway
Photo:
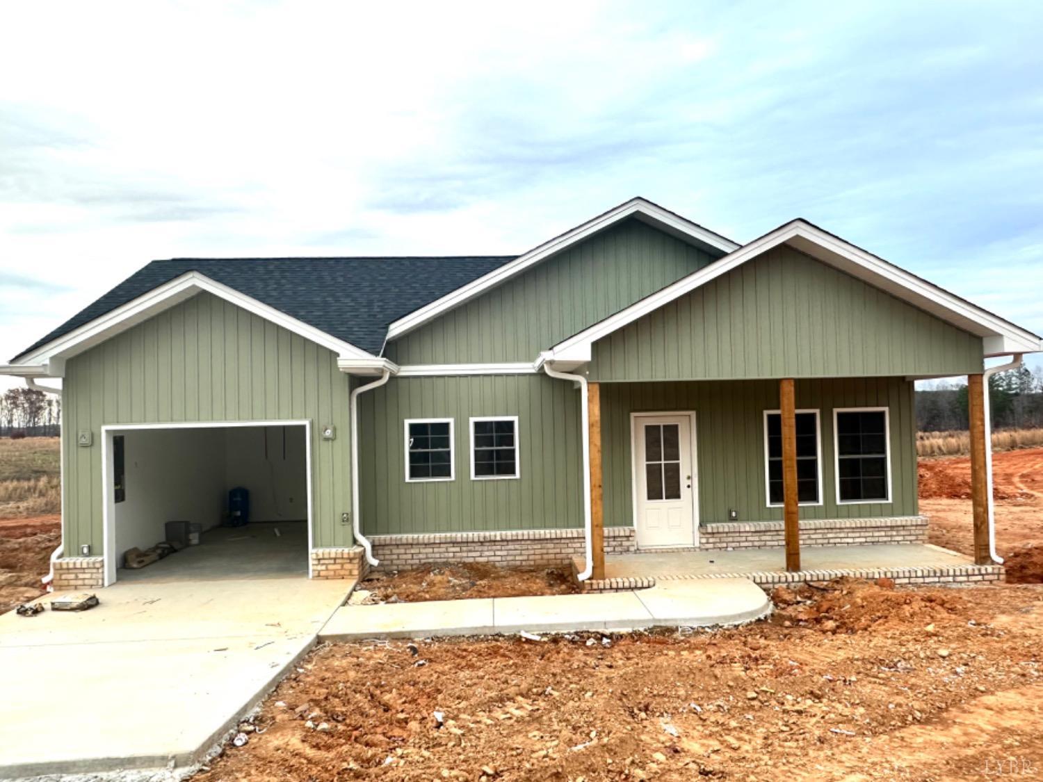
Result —
<path fill-rule="evenodd" d="M 113 435 L 120 432 L 164 429 L 231 429 L 233 426 L 304 426 L 305 427 L 305 472 L 308 481 L 308 578 L 312 578 L 311 553 L 315 548 L 315 526 L 312 511 L 312 422 L 310 420 L 276 421 L 178 421 L 176 423 L 108 423 L 101 427 L 101 504 L 102 516 L 102 558 L 104 562 L 104 585 L 116 582 L 116 492 L 108 481 L 112 469 L 110 460 L 113 451 Z"/>

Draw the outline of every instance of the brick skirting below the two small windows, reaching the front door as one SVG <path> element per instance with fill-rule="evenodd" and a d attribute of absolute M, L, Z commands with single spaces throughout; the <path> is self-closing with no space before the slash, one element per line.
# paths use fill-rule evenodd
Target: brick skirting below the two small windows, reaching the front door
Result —
<path fill-rule="evenodd" d="M 516 530 L 429 535 L 373 535 L 373 556 L 382 570 L 426 562 L 492 562 L 500 565 L 564 565 L 584 556 L 583 530 Z M 631 554 L 632 527 L 606 527 L 605 553 Z"/>

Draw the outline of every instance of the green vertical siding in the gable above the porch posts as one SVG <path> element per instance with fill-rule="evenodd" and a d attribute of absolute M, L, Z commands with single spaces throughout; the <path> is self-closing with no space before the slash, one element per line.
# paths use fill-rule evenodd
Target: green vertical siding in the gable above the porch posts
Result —
<path fill-rule="evenodd" d="M 593 344 L 590 380 L 953 375 L 981 339 L 776 247 Z"/>

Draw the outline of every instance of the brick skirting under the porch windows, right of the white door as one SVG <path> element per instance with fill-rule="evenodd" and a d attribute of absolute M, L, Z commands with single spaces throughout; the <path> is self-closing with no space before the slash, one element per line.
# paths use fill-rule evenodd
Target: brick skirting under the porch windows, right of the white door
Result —
<path fill-rule="evenodd" d="M 926 543 L 926 516 L 806 519 L 801 546 Z M 785 544 L 781 521 L 729 521 L 699 526 L 700 548 L 770 548 Z"/>

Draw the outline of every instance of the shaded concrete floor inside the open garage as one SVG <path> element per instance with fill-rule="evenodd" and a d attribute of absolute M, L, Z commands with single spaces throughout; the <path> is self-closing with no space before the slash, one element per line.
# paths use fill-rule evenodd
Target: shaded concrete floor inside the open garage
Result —
<path fill-rule="evenodd" d="M 275 534 L 275 531 L 278 534 Z M 216 527 L 192 545 L 151 565 L 121 567 L 117 582 L 259 579 L 308 576 L 308 522 L 250 522 Z"/>

